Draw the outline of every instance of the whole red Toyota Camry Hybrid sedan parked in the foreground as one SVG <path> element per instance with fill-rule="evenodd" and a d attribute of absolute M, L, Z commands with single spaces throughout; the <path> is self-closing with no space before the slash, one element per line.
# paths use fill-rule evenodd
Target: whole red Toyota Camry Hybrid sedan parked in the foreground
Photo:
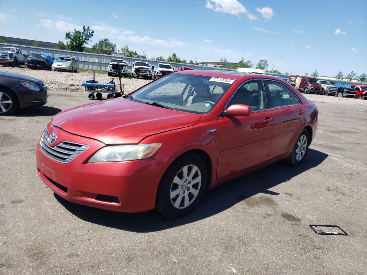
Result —
<path fill-rule="evenodd" d="M 184 70 L 55 115 L 37 170 L 68 201 L 180 217 L 208 188 L 280 159 L 297 166 L 318 109 L 279 78 Z"/>

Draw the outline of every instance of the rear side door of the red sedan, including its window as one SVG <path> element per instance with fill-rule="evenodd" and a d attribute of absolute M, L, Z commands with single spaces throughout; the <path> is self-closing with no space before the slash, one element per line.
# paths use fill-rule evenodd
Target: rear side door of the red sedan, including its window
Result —
<path fill-rule="evenodd" d="M 288 153 L 306 123 L 305 109 L 297 96 L 283 83 L 266 80 L 265 88 L 273 108 L 274 130 L 269 159 Z"/>

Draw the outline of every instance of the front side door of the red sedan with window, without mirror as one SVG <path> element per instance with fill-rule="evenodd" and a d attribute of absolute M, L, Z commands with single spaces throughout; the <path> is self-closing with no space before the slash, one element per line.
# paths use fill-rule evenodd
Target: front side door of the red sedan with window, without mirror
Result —
<path fill-rule="evenodd" d="M 252 114 L 249 117 L 219 117 L 217 179 L 268 160 L 273 120 L 263 81 L 245 82 L 227 107 L 236 103 L 251 106 Z"/>

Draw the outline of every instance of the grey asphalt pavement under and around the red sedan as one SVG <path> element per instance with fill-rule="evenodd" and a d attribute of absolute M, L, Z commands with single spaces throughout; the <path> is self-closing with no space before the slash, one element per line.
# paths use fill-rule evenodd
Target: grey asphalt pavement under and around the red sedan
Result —
<path fill-rule="evenodd" d="M 169 220 L 70 203 L 39 179 L 44 127 L 87 95 L 51 91 L 46 106 L 0 117 L 0 274 L 367 274 L 366 106 L 317 103 L 301 166 L 277 162 L 228 181 Z"/>

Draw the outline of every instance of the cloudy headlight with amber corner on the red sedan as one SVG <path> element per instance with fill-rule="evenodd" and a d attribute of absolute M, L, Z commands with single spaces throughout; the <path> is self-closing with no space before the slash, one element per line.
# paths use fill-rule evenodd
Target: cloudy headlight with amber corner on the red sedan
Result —
<path fill-rule="evenodd" d="M 98 150 L 88 162 L 130 161 L 149 158 L 161 146 L 162 143 L 106 146 Z"/>

